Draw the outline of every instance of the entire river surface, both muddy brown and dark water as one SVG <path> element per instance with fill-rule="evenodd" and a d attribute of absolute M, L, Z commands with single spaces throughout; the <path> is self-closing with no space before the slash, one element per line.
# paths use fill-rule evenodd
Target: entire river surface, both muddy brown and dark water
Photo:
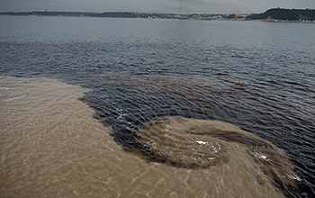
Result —
<path fill-rule="evenodd" d="M 4 197 L 315 195 L 313 24 L 0 28 Z"/>

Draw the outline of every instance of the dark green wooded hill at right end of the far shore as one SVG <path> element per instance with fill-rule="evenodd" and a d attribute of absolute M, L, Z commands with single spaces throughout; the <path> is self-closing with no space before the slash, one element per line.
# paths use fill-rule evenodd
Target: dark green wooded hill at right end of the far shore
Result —
<path fill-rule="evenodd" d="M 289 20 L 289 21 L 299 21 L 299 20 L 315 20 L 315 10 L 306 9 L 284 9 L 284 8 L 273 8 L 267 10 L 263 14 L 252 14 L 247 16 L 249 20 L 266 20 L 267 18 L 272 18 L 275 20 Z"/>

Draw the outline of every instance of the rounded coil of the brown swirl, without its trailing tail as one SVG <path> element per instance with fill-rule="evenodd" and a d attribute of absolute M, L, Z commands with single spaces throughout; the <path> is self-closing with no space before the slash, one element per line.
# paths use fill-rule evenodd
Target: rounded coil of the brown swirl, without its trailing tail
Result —
<path fill-rule="evenodd" d="M 165 117 L 148 122 L 137 134 L 141 151 L 155 161 L 186 168 L 205 168 L 228 160 L 222 142 L 201 134 L 193 135 L 196 130 L 187 121 L 181 117 Z"/>

